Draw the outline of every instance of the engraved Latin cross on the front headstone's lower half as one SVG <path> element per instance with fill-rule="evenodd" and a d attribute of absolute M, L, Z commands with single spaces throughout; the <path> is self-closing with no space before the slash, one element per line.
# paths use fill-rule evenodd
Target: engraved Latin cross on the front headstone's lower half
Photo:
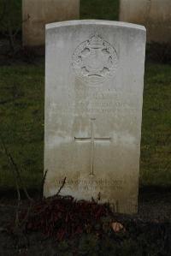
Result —
<path fill-rule="evenodd" d="M 91 118 L 91 137 L 78 138 L 74 137 L 76 142 L 91 142 L 91 170 L 90 176 L 94 176 L 94 154 L 95 154 L 95 142 L 109 142 L 111 140 L 110 137 L 97 138 L 94 135 L 94 122 L 96 118 Z"/>

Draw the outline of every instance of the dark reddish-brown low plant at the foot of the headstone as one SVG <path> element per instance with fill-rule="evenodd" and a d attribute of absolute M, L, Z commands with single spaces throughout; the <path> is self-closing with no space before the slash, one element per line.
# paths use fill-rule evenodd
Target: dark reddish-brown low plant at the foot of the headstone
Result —
<path fill-rule="evenodd" d="M 21 212 L 26 220 L 24 231 L 40 231 L 61 241 L 82 233 L 103 232 L 103 217 L 112 217 L 109 205 L 92 201 L 76 201 L 72 196 L 53 196 L 32 203 Z"/>

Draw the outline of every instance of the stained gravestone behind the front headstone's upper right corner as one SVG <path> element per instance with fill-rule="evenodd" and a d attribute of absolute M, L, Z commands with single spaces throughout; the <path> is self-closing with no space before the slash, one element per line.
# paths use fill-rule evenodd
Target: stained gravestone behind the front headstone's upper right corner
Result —
<path fill-rule="evenodd" d="M 120 0 L 120 21 L 144 25 L 147 40 L 171 43 L 170 0 Z"/>

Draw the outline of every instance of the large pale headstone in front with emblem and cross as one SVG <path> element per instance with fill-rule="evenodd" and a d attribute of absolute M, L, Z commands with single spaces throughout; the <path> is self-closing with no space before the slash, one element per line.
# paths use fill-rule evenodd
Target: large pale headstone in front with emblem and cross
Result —
<path fill-rule="evenodd" d="M 145 28 L 115 21 L 46 27 L 44 196 L 137 211 Z"/>

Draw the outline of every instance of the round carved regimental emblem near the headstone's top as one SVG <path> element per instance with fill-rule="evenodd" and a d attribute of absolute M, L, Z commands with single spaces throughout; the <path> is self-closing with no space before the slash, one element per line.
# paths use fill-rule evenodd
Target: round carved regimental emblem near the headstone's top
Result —
<path fill-rule="evenodd" d="M 98 35 L 80 44 L 73 55 L 75 74 L 89 85 L 101 84 L 114 76 L 117 63 L 115 48 Z"/>

